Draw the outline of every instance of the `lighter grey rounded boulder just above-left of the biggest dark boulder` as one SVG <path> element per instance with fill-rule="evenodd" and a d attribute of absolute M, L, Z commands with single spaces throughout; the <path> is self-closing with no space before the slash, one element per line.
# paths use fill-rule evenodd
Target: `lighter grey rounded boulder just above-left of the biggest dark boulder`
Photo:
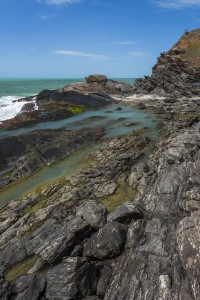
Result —
<path fill-rule="evenodd" d="M 76 215 L 90 223 L 91 228 L 99 229 L 106 224 L 108 214 L 105 206 L 96 203 L 84 203 L 78 207 Z"/>

